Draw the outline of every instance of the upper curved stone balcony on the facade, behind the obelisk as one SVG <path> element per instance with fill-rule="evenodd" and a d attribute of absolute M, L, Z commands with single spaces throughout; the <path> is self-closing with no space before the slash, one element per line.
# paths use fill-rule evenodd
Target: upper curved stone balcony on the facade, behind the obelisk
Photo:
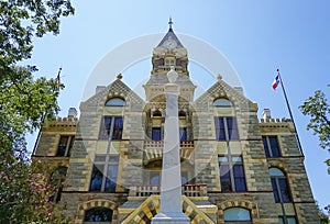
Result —
<path fill-rule="evenodd" d="M 145 141 L 144 142 L 144 155 L 143 163 L 147 165 L 151 161 L 161 160 L 163 157 L 163 141 Z M 194 141 L 180 142 L 180 158 L 184 160 L 190 160 L 194 152 Z"/>

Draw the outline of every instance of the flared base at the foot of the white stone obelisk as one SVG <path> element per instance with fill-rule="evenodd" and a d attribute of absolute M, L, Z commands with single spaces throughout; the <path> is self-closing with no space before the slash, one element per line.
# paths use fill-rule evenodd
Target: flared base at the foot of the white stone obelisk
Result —
<path fill-rule="evenodd" d="M 187 217 L 184 213 L 158 213 L 152 219 L 152 224 L 164 224 L 164 223 L 175 223 L 175 224 L 189 224 L 190 219 Z"/>

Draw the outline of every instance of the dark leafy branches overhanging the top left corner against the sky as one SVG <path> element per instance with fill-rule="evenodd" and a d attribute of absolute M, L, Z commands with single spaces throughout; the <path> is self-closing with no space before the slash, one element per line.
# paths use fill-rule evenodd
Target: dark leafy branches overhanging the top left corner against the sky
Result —
<path fill-rule="evenodd" d="M 73 13 L 69 0 L 1 0 L 1 74 L 31 57 L 33 36 L 42 37 L 48 32 L 58 34 L 61 16 Z"/>

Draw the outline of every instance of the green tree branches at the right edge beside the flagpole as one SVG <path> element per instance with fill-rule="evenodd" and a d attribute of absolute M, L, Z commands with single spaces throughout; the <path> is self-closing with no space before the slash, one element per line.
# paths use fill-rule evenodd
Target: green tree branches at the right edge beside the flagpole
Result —
<path fill-rule="evenodd" d="M 312 130 L 315 135 L 319 137 L 321 148 L 330 152 L 330 104 L 323 91 L 317 90 L 312 97 L 305 100 L 299 107 L 304 115 L 309 115 L 310 121 L 307 124 L 307 130 Z M 326 160 L 330 166 L 330 159 Z M 330 173 L 330 169 L 328 168 Z"/>

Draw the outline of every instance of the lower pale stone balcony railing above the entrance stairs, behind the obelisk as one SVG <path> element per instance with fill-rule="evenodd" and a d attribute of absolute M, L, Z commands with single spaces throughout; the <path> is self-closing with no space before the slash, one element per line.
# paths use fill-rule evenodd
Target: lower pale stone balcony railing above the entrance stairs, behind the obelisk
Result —
<path fill-rule="evenodd" d="M 184 184 L 183 194 L 186 197 L 206 197 L 207 184 Z M 150 197 L 152 194 L 160 194 L 161 186 L 141 184 L 132 186 L 130 188 L 130 197 Z"/>

